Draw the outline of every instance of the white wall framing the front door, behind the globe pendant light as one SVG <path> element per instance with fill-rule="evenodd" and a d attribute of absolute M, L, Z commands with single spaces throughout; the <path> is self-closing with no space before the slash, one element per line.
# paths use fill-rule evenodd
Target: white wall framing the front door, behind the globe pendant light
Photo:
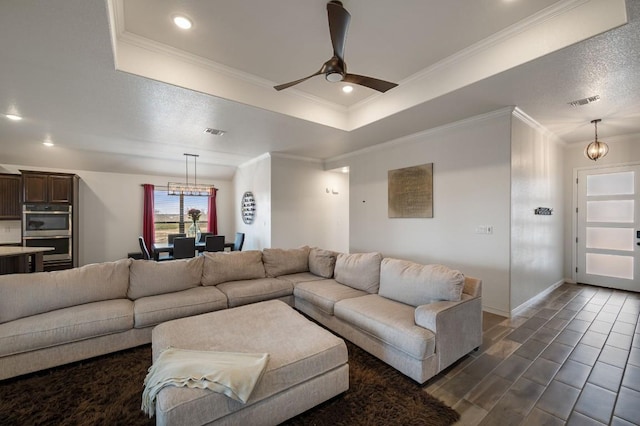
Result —
<path fill-rule="evenodd" d="M 565 167 L 564 167 L 564 222 L 566 224 L 564 231 L 564 276 L 573 277 L 575 268 L 575 190 L 577 170 L 593 169 L 601 167 L 611 167 L 617 165 L 625 165 L 632 163 L 640 163 L 640 134 L 619 136 L 616 138 L 607 138 L 606 121 L 598 126 L 598 140 L 604 141 L 609 145 L 609 153 L 602 159 L 594 162 L 584 156 L 584 148 L 593 139 L 586 140 L 583 143 L 572 144 L 565 148 Z"/>

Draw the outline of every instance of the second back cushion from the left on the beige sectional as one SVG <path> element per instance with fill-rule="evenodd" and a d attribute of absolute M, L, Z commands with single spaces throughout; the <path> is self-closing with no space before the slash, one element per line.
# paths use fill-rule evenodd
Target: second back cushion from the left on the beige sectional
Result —
<path fill-rule="evenodd" d="M 204 259 L 197 256 L 169 262 L 134 260 L 131 263 L 129 299 L 172 293 L 200 285 Z"/>

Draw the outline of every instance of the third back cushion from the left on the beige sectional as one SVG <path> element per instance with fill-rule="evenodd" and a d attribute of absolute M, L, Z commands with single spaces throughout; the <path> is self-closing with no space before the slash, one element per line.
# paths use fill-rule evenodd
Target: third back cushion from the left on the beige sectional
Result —
<path fill-rule="evenodd" d="M 259 250 L 207 252 L 204 254 L 202 285 L 227 281 L 264 278 L 262 252 Z"/>

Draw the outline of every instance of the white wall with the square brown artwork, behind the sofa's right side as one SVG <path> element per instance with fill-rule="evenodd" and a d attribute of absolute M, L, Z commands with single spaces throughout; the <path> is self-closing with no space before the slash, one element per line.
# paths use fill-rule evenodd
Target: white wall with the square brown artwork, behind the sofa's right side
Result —
<path fill-rule="evenodd" d="M 363 150 L 350 167 L 350 251 L 443 263 L 483 280 L 483 304 L 509 313 L 511 109 Z M 388 170 L 433 163 L 434 217 L 387 217 Z M 480 225 L 493 234 L 476 234 Z"/>

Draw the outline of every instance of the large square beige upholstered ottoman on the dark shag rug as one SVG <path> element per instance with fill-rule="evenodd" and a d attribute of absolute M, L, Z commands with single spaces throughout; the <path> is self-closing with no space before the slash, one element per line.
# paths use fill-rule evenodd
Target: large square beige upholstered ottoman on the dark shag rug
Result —
<path fill-rule="evenodd" d="M 162 323 L 152 347 L 154 361 L 168 347 L 269 354 L 246 404 L 168 386 L 157 396 L 157 425 L 275 425 L 349 388 L 344 341 L 278 300 Z"/>

